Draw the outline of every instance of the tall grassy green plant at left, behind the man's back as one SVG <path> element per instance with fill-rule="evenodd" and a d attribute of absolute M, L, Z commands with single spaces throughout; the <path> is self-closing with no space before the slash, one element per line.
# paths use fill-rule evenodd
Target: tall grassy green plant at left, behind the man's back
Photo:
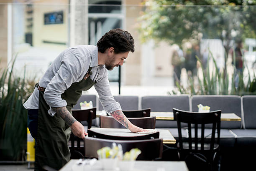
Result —
<path fill-rule="evenodd" d="M 13 74 L 11 68 L 0 70 L 0 160 L 22 160 L 26 149 L 27 110 L 23 103 L 33 92 L 33 81 Z"/>

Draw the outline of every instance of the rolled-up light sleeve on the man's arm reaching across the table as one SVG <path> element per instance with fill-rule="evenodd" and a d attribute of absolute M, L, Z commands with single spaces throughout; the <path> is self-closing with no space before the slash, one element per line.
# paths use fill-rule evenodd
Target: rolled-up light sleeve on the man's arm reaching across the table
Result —
<path fill-rule="evenodd" d="M 103 74 L 103 77 L 97 81 L 94 87 L 99 95 L 100 102 L 107 113 L 122 110 L 120 104 L 115 101 L 110 91 L 110 85 L 108 82 L 108 72 L 106 69 Z"/>

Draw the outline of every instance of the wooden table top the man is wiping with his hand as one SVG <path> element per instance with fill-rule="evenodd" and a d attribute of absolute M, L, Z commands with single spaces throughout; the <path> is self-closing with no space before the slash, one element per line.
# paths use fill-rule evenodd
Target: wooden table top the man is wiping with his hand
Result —
<path fill-rule="evenodd" d="M 142 134 L 133 133 L 128 129 L 122 128 L 91 128 L 92 131 L 103 133 L 111 136 L 141 136 Z M 155 129 L 159 131 L 159 138 L 163 139 L 164 144 L 175 144 L 176 139 L 172 136 L 169 130 Z"/>

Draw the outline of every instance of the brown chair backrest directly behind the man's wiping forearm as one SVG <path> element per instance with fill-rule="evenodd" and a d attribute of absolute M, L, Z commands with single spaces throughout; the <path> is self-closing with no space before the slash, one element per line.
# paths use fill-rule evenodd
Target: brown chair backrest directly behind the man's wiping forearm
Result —
<path fill-rule="evenodd" d="M 154 129 L 156 126 L 156 117 L 128 118 L 128 120 L 138 127 L 144 129 Z M 100 115 L 100 128 L 125 128 L 121 123 L 115 120 L 113 116 Z"/>

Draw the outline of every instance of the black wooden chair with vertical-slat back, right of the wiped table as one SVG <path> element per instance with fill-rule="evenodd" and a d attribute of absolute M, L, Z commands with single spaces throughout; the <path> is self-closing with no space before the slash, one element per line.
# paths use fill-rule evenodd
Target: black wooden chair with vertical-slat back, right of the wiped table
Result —
<path fill-rule="evenodd" d="M 179 143 L 177 143 L 179 159 L 186 161 L 189 170 L 212 170 L 215 156 L 220 148 L 221 110 L 198 113 L 173 108 L 173 113 L 176 116 L 179 133 Z M 182 138 L 181 123 L 187 123 L 189 135 L 187 139 Z M 192 137 L 191 124 L 194 126 L 195 137 Z M 205 124 L 212 125 L 210 141 L 205 138 Z M 198 129 L 201 133 L 197 132 Z"/>

